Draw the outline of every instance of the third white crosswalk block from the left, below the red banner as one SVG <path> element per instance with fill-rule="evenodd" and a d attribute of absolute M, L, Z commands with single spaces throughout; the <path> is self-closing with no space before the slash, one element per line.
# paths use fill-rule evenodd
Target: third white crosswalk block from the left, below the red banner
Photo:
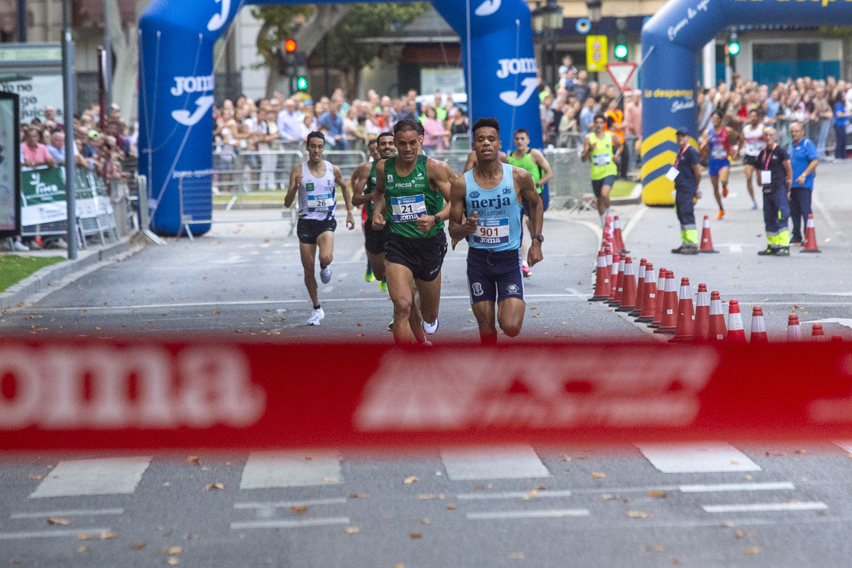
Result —
<path fill-rule="evenodd" d="M 550 471 L 531 446 L 488 448 L 485 450 L 441 450 L 450 479 L 547 478 Z"/>

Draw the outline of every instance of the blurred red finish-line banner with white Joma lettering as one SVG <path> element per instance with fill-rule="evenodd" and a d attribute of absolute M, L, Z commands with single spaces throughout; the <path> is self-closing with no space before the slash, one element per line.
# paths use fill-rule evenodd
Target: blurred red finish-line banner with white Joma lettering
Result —
<path fill-rule="evenodd" d="M 852 436 L 848 343 L 0 339 L 4 450 Z"/>

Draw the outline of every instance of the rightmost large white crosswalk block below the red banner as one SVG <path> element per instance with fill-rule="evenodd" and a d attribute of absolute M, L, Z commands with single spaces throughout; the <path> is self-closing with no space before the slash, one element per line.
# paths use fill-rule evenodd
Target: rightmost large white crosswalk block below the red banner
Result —
<path fill-rule="evenodd" d="M 662 473 L 761 471 L 746 454 L 724 442 L 636 444 L 636 447 Z"/>

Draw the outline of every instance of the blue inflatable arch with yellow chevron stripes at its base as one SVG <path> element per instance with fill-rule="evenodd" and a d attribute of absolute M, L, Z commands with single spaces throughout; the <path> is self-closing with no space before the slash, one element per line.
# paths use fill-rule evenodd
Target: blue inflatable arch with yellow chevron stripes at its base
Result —
<path fill-rule="evenodd" d="M 697 138 L 699 50 L 727 26 L 852 24 L 852 0 L 671 0 L 642 26 L 642 198 L 673 204 L 675 129 Z"/>

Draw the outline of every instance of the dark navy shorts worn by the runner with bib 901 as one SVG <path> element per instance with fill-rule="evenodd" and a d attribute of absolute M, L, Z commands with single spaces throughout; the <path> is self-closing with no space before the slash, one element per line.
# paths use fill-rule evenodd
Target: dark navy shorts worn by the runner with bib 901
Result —
<path fill-rule="evenodd" d="M 470 303 L 524 299 L 521 250 L 468 249 Z"/>

